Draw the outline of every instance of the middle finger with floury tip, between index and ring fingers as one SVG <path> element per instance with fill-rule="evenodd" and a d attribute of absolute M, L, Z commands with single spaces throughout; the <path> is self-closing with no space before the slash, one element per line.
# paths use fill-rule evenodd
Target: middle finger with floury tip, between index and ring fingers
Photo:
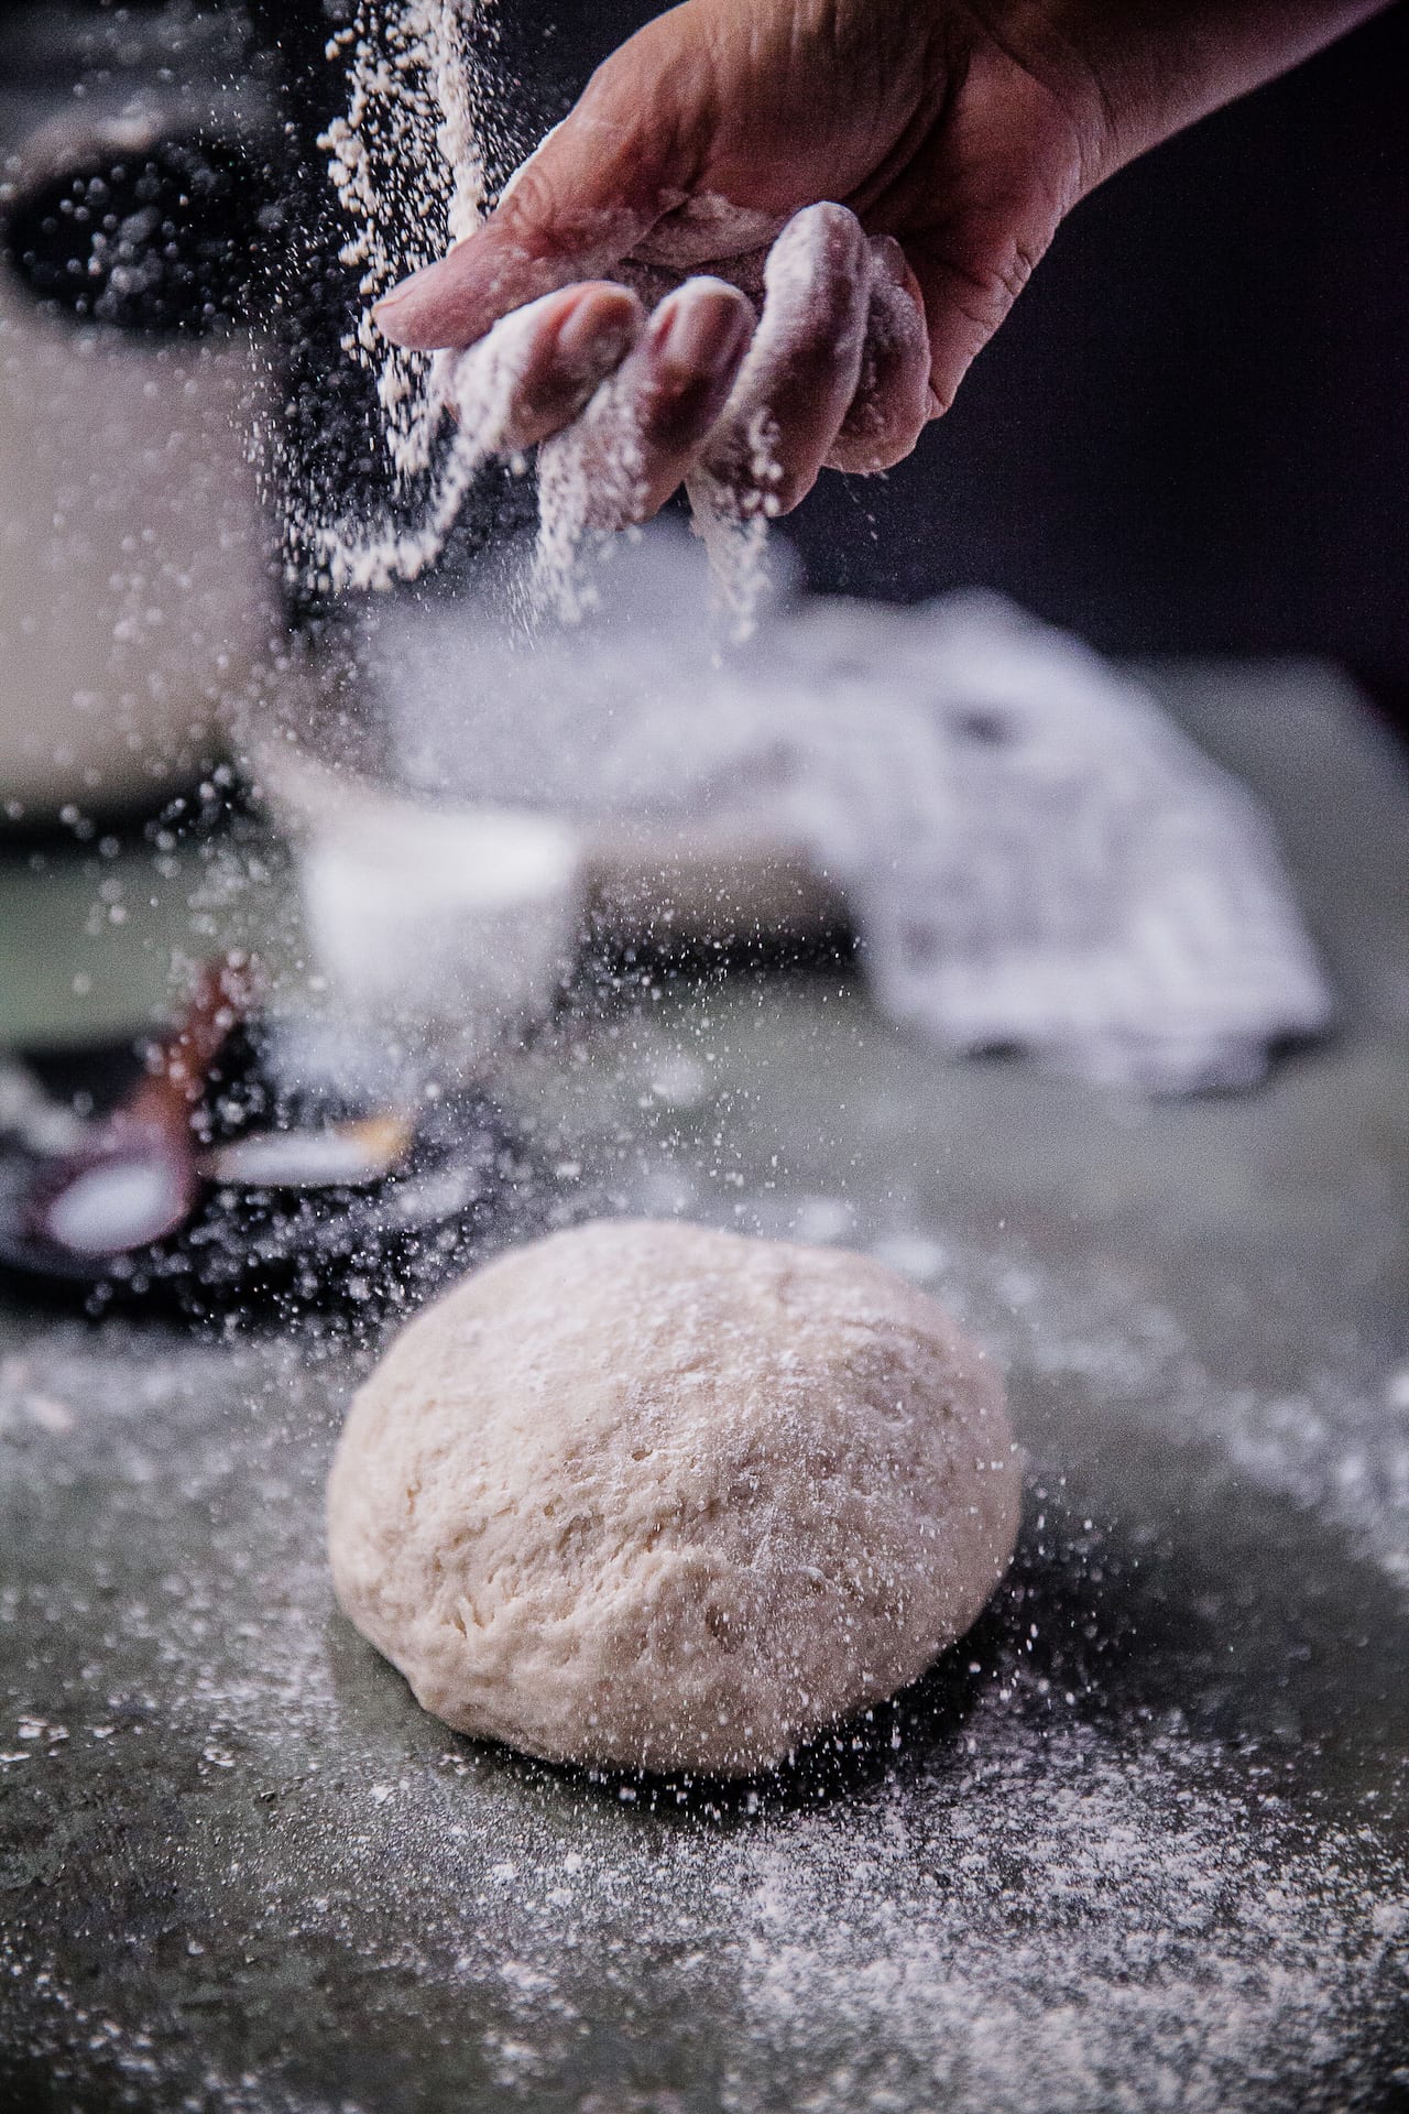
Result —
<path fill-rule="evenodd" d="M 543 512 L 575 528 L 649 520 L 680 486 L 735 385 L 754 332 L 748 298 L 687 279 L 581 419 L 539 455 Z"/>

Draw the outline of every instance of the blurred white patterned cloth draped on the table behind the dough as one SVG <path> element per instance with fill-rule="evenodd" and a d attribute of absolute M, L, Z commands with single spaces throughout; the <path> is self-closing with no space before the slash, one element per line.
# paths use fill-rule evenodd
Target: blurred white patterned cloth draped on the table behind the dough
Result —
<path fill-rule="evenodd" d="M 1094 653 L 965 594 L 779 598 L 720 655 L 701 581 L 659 533 L 575 630 L 391 605 L 370 666 L 403 782 L 801 850 L 879 1004 L 955 1053 L 1185 1093 L 1329 1025 L 1261 808 Z"/>

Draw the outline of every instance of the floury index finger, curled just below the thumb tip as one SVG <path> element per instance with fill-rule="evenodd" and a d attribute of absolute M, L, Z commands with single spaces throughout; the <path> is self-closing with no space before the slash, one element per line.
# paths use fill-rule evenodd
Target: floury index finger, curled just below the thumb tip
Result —
<path fill-rule="evenodd" d="M 545 294 L 467 353 L 442 355 L 437 393 L 484 455 L 515 455 L 577 419 L 644 323 L 623 285 L 589 281 Z"/>

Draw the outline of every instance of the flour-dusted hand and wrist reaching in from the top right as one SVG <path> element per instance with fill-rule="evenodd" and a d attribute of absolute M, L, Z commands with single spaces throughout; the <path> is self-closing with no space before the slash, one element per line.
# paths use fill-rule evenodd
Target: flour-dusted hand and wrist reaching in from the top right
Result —
<path fill-rule="evenodd" d="M 684 480 L 782 514 L 824 465 L 887 469 L 915 446 L 1084 192 L 1373 11 L 687 0 L 378 323 L 461 349 L 532 302 L 507 326 L 496 442 L 581 419 L 596 526 L 649 518 Z M 630 476 L 608 474 L 623 455 Z"/>

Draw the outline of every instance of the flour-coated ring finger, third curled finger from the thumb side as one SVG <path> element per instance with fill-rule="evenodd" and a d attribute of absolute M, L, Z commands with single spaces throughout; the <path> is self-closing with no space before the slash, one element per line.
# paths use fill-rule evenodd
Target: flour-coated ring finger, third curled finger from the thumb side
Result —
<path fill-rule="evenodd" d="M 845 207 L 809 205 L 777 237 L 763 321 L 697 471 L 714 509 L 788 514 L 818 482 L 862 376 L 870 285 Z"/>

